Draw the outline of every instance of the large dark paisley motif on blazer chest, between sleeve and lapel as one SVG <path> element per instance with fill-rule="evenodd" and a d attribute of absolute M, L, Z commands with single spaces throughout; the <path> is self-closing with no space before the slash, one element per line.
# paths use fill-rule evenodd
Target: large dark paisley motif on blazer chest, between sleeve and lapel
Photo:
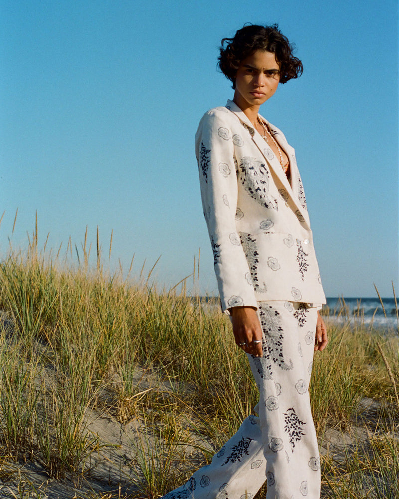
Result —
<path fill-rule="evenodd" d="M 265 208 L 278 210 L 276 199 L 269 197 L 269 171 L 264 163 L 246 156 L 239 165 L 239 180 L 245 191 Z"/>

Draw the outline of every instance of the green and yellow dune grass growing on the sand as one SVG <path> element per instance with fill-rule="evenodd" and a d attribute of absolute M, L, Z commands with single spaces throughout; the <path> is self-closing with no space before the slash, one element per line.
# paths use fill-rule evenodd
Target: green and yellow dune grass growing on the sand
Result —
<path fill-rule="evenodd" d="M 88 473 L 90 454 L 103 443 L 86 414 L 105 410 L 121 423 L 145 421 L 132 440 L 133 482 L 136 497 L 158 498 L 237 430 L 257 402 L 256 387 L 217 302 L 186 296 L 184 283 L 180 293 L 161 293 L 148 279 L 105 273 L 98 241 L 92 269 L 85 247 L 79 264 L 68 266 L 40 252 L 33 236 L 28 250 L 1 258 L 0 479 L 5 460 L 35 460 L 56 479 Z M 367 445 L 359 441 L 339 461 L 323 457 L 323 497 L 395 497 L 397 333 L 337 324 L 328 324 L 330 344 L 312 374 L 320 440 L 327 429 L 351 427 L 361 398 L 382 405 L 374 428 L 364 423 Z M 143 390 L 135 366 L 156 372 L 169 389 Z"/>

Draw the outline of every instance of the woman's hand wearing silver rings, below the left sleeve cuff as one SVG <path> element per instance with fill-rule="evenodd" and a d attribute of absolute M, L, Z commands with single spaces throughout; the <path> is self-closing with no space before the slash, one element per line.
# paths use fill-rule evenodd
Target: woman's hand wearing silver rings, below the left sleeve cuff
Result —
<path fill-rule="evenodd" d="M 236 344 L 246 353 L 262 357 L 262 326 L 253 307 L 232 307 L 233 333 Z"/>

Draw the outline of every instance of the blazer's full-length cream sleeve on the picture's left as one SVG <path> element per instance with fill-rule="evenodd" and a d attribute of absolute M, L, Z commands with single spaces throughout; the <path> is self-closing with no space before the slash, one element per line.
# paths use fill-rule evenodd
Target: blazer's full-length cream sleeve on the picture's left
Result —
<path fill-rule="evenodd" d="M 228 111 L 227 111 L 228 112 Z M 208 111 L 196 134 L 202 206 L 213 250 L 223 312 L 257 308 L 251 273 L 235 225 L 238 184 L 234 140 L 226 112 Z"/>

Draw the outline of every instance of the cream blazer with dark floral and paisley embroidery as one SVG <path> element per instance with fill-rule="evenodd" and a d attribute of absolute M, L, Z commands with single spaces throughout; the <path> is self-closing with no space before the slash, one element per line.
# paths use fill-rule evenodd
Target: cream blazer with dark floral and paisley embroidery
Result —
<path fill-rule="evenodd" d="M 196 133 L 202 205 L 227 313 L 257 301 L 326 302 L 295 151 L 269 128 L 290 160 L 290 181 L 234 102 L 205 113 Z"/>

